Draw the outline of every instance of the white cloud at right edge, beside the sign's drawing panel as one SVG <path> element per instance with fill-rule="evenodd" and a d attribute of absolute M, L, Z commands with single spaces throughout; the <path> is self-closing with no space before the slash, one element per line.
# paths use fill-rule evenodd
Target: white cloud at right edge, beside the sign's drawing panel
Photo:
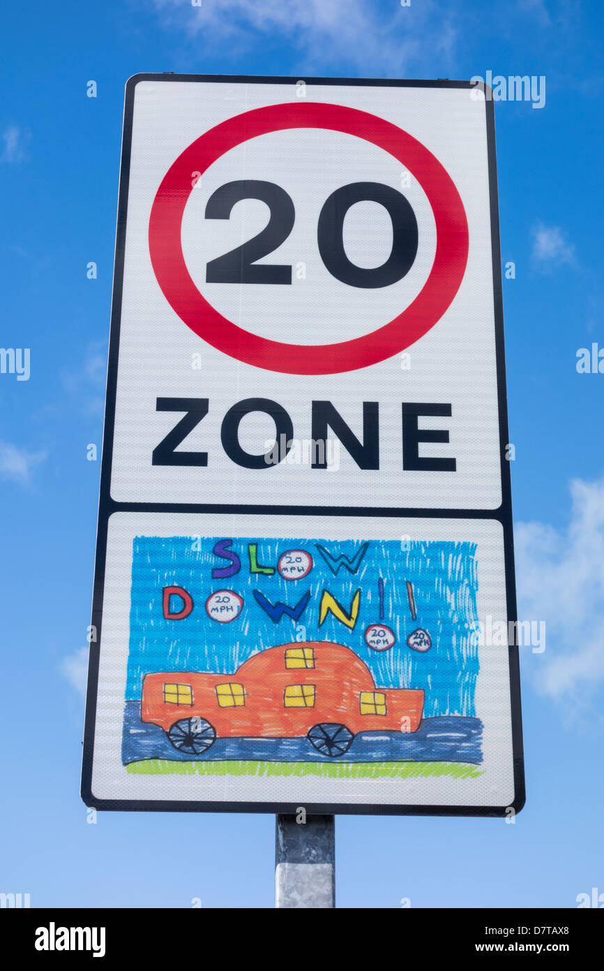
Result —
<path fill-rule="evenodd" d="M 535 686 L 568 715 L 604 686 L 604 479 L 570 489 L 566 528 L 515 528 L 519 617 L 546 621 L 546 650 L 531 655 Z"/>

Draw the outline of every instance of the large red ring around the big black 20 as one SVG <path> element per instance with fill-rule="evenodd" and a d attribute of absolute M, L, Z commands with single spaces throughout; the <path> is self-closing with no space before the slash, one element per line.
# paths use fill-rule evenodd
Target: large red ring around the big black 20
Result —
<path fill-rule="evenodd" d="M 363 337 L 314 345 L 281 344 L 259 337 L 208 303 L 184 261 L 180 227 L 193 174 L 203 175 L 217 158 L 241 142 L 287 128 L 327 128 L 363 138 L 397 158 L 428 196 L 436 223 L 436 252 L 429 278 L 401 314 Z M 467 218 L 460 193 L 431 151 L 392 122 L 342 105 L 270 105 L 210 128 L 178 155 L 157 190 L 149 218 L 153 270 L 178 317 L 218 351 L 283 374 L 355 371 L 404 351 L 428 333 L 452 303 L 463 279 L 467 251 Z"/>

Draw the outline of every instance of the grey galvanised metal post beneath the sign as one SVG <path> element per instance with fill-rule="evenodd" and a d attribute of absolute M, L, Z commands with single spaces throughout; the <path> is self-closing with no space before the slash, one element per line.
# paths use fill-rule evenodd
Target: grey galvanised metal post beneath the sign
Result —
<path fill-rule="evenodd" d="M 333 816 L 275 817 L 274 906 L 335 907 Z"/>

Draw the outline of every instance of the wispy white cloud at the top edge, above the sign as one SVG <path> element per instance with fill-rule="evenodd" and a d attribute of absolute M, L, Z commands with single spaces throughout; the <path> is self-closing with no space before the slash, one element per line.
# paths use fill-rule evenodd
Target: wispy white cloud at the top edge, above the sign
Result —
<path fill-rule="evenodd" d="M 203 0 L 201 7 L 192 7 L 191 0 L 152 2 L 165 27 L 185 30 L 198 44 L 222 43 L 226 54 L 236 56 L 261 38 L 285 40 L 301 50 L 305 68 L 313 65 L 327 74 L 335 72 L 326 65 L 341 60 L 401 77 L 409 60 L 423 55 L 428 25 L 436 57 L 448 60 L 457 37 L 433 0 L 413 9 L 393 0 L 388 12 L 370 0 Z"/>

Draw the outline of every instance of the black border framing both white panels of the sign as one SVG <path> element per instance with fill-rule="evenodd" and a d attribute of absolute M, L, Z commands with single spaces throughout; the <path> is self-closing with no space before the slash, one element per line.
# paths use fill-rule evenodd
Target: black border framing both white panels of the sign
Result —
<path fill-rule="evenodd" d="M 219 505 L 186 503 L 123 503 L 111 498 L 111 458 L 115 417 L 115 393 L 117 381 L 117 358 L 119 352 L 119 328 L 121 319 L 122 282 L 124 272 L 124 253 L 126 241 L 126 217 L 128 210 L 128 186 L 130 181 L 130 151 L 132 143 L 132 122 L 134 97 L 140 82 L 207 82 L 210 84 L 305 84 L 361 85 L 373 87 L 445 87 L 478 88 L 486 94 L 487 151 L 489 162 L 489 194 L 491 208 L 491 242 L 493 255 L 493 310 L 495 327 L 495 350 L 497 364 L 497 397 L 499 407 L 499 441 L 501 446 L 501 505 L 496 510 L 451 510 L 397 508 L 381 509 L 357 507 L 350 509 L 341 506 L 266 506 L 266 505 Z M 505 584 L 508 620 L 518 619 L 516 606 L 516 582 L 514 570 L 514 535 L 512 525 L 512 495 L 510 463 L 505 457 L 509 443 L 507 396 L 505 380 L 505 347 L 503 335 L 503 299 L 501 285 L 501 257 L 499 249 L 499 210 L 497 202 L 497 171 L 495 157 L 494 106 L 491 88 L 469 81 L 420 80 L 383 80 L 366 78 L 286 78 L 261 77 L 248 75 L 188 75 L 188 74 L 136 74 L 126 84 L 124 104 L 124 125 L 119 175 L 119 197 L 117 204 L 117 225 L 115 232 L 115 261 L 113 269 L 113 293 L 111 300 L 111 332 L 107 378 L 107 398 L 105 424 L 103 431 L 103 453 L 101 461 L 101 485 L 99 496 L 99 518 L 97 527 L 96 556 L 94 565 L 94 586 L 92 598 L 93 629 L 96 641 L 90 643 L 88 664 L 88 684 L 86 692 L 86 712 L 84 720 L 84 739 L 81 766 L 81 798 L 86 806 L 97 810 L 148 811 L 148 812 L 185 812 L 185 813 L 284 813 L 295 814 L 296 803 L 275 802 L 214 802 L 166 799 L 97 799 L 92 792 L 92 761 L 94 754 L 94 730 L 97 708 L 97 687 L 101 648 L 101 629 L 103 614 L 103 593 L 105 587 L 105 563 L 109 519 L 116 512 L 138 513 L 239 513 L 239 514 L 289 514 L 299 516 L 363 516 L 396 517 L 407 519 L 496 519 L 503 527 L 505 554 Z M 519 813 L 525 805 L 525 760 L 523 752 L 523 727 L 520 689 L 520 658 L 517 645 L 510 645 L 510 695 L 512 712 L 512 749 L 514 759 L 513 802 L 507 806 L 395 806 L 371 805 L 367 803 L 305 803 L 304 809 L 310 814 L 350 814 L 360 816 L 510 816 L 512 810 Z"/>

